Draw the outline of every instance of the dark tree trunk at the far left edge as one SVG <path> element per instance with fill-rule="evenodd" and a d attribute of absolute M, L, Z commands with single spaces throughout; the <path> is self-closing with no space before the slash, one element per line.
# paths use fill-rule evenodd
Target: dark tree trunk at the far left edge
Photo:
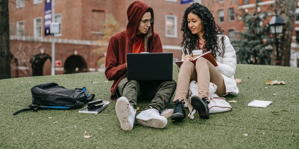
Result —
<path fill-rule="evenodd" d="M 0 79 L 10 78 L 8 1 L 0 0 Z"/>

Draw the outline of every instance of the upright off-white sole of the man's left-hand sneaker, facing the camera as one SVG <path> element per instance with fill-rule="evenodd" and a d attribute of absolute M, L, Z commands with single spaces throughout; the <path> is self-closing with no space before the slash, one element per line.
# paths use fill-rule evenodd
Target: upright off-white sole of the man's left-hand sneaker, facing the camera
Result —
<path fill-rule="evenodd" d="M 120 127 L 123 130 L 129 131 L 132 130 L 133 127 L 129 122 L 130 115 L 130 103 L 126 99 L 118 99 L 115 104 L 116 115 L 120 122 Z"/>

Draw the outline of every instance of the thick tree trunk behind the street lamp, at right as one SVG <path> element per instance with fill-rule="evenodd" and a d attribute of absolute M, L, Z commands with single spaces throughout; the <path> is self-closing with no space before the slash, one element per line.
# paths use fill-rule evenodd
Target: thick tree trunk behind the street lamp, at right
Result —
<path fill-rule="evenodd" d="M 281 41 L 281 44 L 279 44 L 280 66 L 290 66 L 291 42 L 292 42 L 292 33 L 294 28 L 293 26 L 294 26 L 296 6 L 297 6 L 297 1 L 295 0 L 275 0 L 275 4 L 274 4 L 275 10 L 277 11 L 277 14 L 281 18 L 283 18 L 284 23 L 286 23 L 286 25 L 283 27 L 284 32 L 280 36 L 280 41 Z"/>

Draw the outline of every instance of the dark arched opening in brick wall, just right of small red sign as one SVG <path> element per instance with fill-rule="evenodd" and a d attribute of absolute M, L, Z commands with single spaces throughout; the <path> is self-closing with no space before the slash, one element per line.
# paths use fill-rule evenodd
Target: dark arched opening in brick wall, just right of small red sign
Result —
<path fill-rule="evenodd" d="M 64 74 L 87 72 L 85 60 L 78 55 L 71 55 L 65 60 Z"/>

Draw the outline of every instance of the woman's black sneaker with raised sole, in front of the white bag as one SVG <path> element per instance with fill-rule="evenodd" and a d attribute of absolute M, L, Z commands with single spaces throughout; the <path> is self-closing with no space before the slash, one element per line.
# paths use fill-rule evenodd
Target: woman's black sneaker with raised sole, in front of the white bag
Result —
<path fill-rule="evenodd" d="M 210 118 L 209 107 L 206 100 L 207 98 L 200 99 L 198 96 L 192 96 L 190 100 L 191 105 L 199 113 L 201 119 Z"/>

